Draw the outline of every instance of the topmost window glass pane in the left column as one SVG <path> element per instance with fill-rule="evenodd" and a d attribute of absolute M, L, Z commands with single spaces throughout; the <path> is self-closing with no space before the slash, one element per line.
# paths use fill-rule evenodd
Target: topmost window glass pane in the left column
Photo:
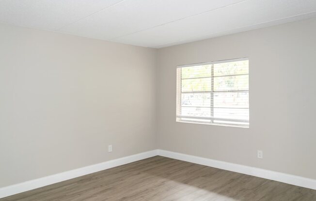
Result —
<path fill-rule="evenodd" d="M 181 68 L 181 77 L 194 78 L 194 77 L 210 77 L 212 65 L 192 66 Z"/>

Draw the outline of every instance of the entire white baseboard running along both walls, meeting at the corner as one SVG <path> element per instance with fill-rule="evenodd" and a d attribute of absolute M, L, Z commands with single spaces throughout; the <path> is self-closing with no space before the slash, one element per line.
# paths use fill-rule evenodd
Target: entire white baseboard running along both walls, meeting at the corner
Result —
<path fill-rule="evenodd" d="M 46 177 L 30 180 L 27 182 L 15 184 L 8 187 L 2 187 L 0 188 L 0 198 L 4 198 L 10 195 L 25 192 L 25 191 L 32 190 L 35 188 L 55 184 L 58 182 L 62 182 L 68 179 L 76 178 L 76 177 L 90 174 L 93 172 L 98 172 L 98 171 L 106 170 L 109 168 L 117 167 L 120 165 L 137 161 L 137 160 L 154 157 L 157 155 L 168 157 L 168 158 L 174 158 L 178 160 L 183 160 L 183 161 L 188 161 L 191 163 L 201 164 L 201 165 L 205 165 L 209 167 L 219 168 L 222 170 L 248 174 L 252 176 L 257 176 L 257 177 L 261 177 L 265 179 L 283 182 L 286 184 L 291 184 L 291 185 L 295 185 L 299 187 L 306 187 L 306 188 L 311 188 L 311 189 L 316 190 L 315 179 L 309 179 L 309 178 L 295 176 L 291 174 L 285 174 L 282 172 L 274 172 L 274 171 L 254 168 L 254 167 L 245 166 L 245 165 L 238 165 L 235 163 L 223 162 L 223 161 L 213 160 L 209 158 L 196 157 L 192 155 L 156 149 L 156 150 L 143 152 L 140 154 L 135 154 L 135 155 L 131 155 L 131 156 L 123 157 L 123 158 L 109 160 L 106 162 L 86 166 L 83 168 L 79 168 L 79 169 L 75 169 L 75 170 L 71 170 L 67 172 L 49 175 Z"/>

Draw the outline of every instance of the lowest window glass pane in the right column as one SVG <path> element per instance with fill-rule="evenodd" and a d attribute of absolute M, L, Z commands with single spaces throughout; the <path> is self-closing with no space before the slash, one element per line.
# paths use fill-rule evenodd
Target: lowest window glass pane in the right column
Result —
<path fill-rule="evenodd" d="M 215 118 L 226 119 L 249 119 L 249 109 L 237 109 L 237 108 L 214 108 Z"/>

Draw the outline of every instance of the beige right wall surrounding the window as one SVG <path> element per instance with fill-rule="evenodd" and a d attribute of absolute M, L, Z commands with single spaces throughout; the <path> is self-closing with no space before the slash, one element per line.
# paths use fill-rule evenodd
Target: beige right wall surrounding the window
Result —
<path fill-rule="evenodd" d="M 176 66 L 238 57 L 250 128 L 176 123 Z M 159 49 L 158 148 L 316 179 L 315 59 L 316 18 Z"/>

